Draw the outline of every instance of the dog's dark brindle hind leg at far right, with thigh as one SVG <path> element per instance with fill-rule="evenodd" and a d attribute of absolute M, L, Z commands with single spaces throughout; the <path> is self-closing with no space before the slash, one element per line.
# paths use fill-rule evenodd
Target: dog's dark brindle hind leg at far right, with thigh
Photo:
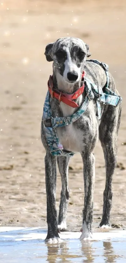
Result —
<path fill-rule="evenodd" d="M 106 106 L 99 126 L 99 139 L 103 148 L 106 183 L 103 192 L 103 216 L 99 227 L 110 227 L 110 210 L 112 206 L 112 177 L 117 163 L 117 135 L 121 117 L 121 105 L 117 108 Z"/>

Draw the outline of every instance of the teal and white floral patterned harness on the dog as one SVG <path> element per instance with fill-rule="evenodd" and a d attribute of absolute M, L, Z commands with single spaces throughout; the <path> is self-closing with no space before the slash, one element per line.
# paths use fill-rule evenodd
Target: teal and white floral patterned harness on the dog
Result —
<path fill-rule="evenodd" d="M 111 91 L 108 88 L 109 83 L 109 75 L 108 75 L 108 65 L 99 62 L 98 60 L 87 60 L 89 62 L 94 62 L 103 67 L 106 73 L 107 82 L 103 89 L 100 86 L 97 86 L 93 82 L 91 82 L 88 78 L 84 79 L 84 85 L 86 90 L 86 97 L 84 98 L 83 104 L 81 107 L 71 116 L 68 117 L 54 117 L 52 116 L 51 107 L 50 107 L 50 93 L 47 92 L 46 99 L 44 102 L 44 108 L 43 108 L 43 117 L 42 120 L 44 121 L 44 129 L 45 129 L 45 135 L 48 142 L 48 146 L 50 149 L 50 153 L 53 156 L 73 156 L 73 152 L 69 152 L 63 149 L 63 145 L 60 144 L 56 128 L 63 127 L 66 125 L 69 125 L 73 123 L 74 121 L 77 121 L 85 112 L 85 110 L 88 107 L 89 101 L 92 99 L 95 99 L 96 105 L 97 105 L 97 117 L 98 120 L 101 119 L 102 115 L 102 109 L 100 103 L 113 105 L 115 107 L 118 106 L 118 104 L 122 101 L 121 96 L 118 96 L 113 91 Z M 50 127 L 46 126 L 46 121 L 51 120 Z"/>

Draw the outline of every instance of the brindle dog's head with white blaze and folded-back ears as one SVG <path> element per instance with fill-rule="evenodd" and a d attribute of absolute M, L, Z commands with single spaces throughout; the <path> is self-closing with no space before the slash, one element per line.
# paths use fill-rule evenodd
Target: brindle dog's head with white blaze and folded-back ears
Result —
<path fill-rule="evenodd" d="M 46 46 L 47 61 L 53 61 L 56 69 L 68 83 L 75 83 L 81 79 L 84 62 L 90 56 L 89 46 L 79 38 L 60 38 Z"/>

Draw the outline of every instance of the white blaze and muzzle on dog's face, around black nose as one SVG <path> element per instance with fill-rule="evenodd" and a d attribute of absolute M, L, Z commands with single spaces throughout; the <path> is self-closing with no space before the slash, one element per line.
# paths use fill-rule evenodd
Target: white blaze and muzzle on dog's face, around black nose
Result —
<path fill-rule="evenodd" d="M 64 68 L 64 72 L 63 72 L 63 78 L 65 81 L 67 82 L 77 82 L 79 81 L 80 79 L 80 74 L 81 74 L 81 67 L 77 67 L 77 65 L 75 63 L 72 62 L 72 59 L 71 59 L 71 55 L 70 55 L 70 51 L 69 49 L 67 48 L 66 49 L 66 52 L 67 52 L 67 59 L 66 61 L 64 62 L 64 65 L 65 65 L 65 68 Z M 68 79 L 68 73 L 69 72 L 74 72 L 78 75 L 78 78 L 75 80 L 75 81 L 70 81 Z"/>

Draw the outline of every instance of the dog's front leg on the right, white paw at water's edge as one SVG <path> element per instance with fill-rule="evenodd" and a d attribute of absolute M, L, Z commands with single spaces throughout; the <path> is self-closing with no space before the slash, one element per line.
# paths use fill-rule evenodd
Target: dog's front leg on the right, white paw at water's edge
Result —
<path fill-rule="evenodd" d="M 95 157 L 93 153 L 82 153 L 83 176 L 84 176 L 84 208 L 83 225 L 80 239 L 92 238 L 93 224 L 93 192 L 95 180 Z"/>

